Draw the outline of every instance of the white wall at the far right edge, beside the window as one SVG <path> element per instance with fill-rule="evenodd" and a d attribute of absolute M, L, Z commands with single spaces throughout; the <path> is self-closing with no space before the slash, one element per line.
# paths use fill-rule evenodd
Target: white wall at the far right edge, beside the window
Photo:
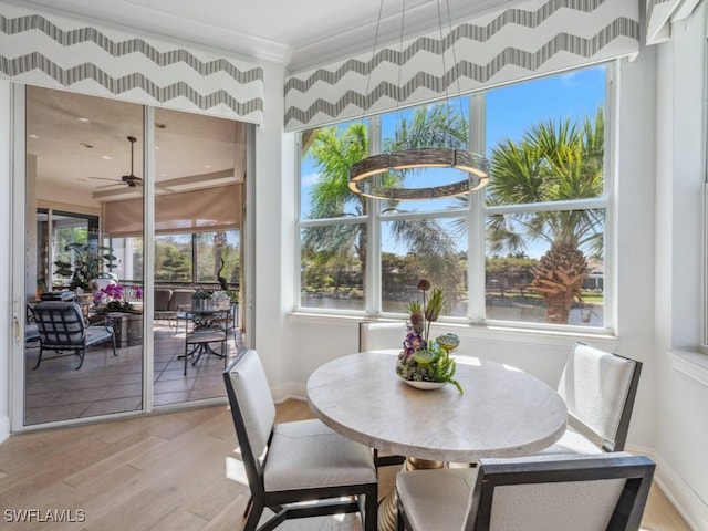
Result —
<path fill-rule="evenodd" d="M 657 49 L 656 458 L 658 480 L 694 529 L 708 529 L 708 357 L 700 340 L 706 176 L 706 14 Z"/>

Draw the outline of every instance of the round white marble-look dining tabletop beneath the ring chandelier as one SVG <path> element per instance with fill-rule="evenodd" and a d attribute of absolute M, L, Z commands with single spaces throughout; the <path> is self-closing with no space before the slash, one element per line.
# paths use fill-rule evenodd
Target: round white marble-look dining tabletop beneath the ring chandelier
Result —
<path fill-rule="evenodd" d="M 423 391 L 396 375 L 398 351 L 339 357 L 308 379 L 313 413 L 335 431 L 383 452 L 471 462 L 534 454 L 565 431 L 568 409 L 541 379 L 480 357 L 455 356 L 464 393 Z"/>

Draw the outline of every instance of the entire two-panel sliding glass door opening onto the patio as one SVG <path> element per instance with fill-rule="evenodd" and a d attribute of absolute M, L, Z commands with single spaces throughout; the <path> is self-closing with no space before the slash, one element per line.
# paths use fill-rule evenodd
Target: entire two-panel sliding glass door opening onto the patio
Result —
<path fill-rule="evenodd" d="M 243 321 L 246 126 L 32 86 L 25 108 L 23 425 L 222 400 Z M 196 316 L 197 293 L 222 311 Z M 73 303 L 81 322 L 60 312 Z M 46 308 L 54 329 L 108 339 L 52 343 Z M 194 335 L 205 323 L 222 341 Z"/>

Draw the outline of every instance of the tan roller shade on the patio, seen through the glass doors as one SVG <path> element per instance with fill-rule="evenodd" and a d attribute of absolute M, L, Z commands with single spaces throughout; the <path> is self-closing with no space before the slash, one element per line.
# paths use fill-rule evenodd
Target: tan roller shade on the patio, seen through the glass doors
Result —
<path fill-rule="evenodd" d="M 239 229 L 241 185 L 155 197 L 155 233 Z M 103 232 L 112 237 L 143 233 L 143 199 L 103 204 Z"/>

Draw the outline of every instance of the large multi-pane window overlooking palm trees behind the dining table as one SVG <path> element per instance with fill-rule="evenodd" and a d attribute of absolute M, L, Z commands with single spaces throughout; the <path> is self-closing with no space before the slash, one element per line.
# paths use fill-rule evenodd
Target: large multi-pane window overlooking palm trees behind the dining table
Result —
<path fill-rule="evenodd" d="M 300 306 L 407 314 L 418 279 L 427 278 L 446 292 L 447 320 L 608 327 L 608 69 L 304 132 Z M 416 201 L 371 200 L 348 190 L 348 168 L 367 154 L 420 146 L 486 146 L 489 186 L 472 196 Z M 379 185 L 460 179 L 449 174 L 389 171 Z"/>

